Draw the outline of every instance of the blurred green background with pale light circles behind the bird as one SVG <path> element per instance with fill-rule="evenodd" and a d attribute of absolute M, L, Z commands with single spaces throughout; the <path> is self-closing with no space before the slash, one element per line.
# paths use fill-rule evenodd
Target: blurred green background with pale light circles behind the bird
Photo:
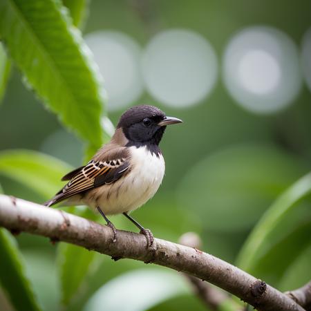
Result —
<path fill-rule="evenodd" d="M 310 16 L 308 0 L 90 2 L 82 29 L 105 79 L 113 125 L 135 104 L 184 121 L 161 142 L 167 169 L 158 194 L 133 214 L 156 237 L 177 242 L 197 232 L 202 249 L 234 263 L 263 212 L 310 171 Z M 39 104 L 17 70 L 0 109 L 0 149 L 41 151 L 76 167 L 83 161 L 83 143 Z M 9 178 L 0 183 L 6 194 L 48 199 Z M 135 230 L 122 216 L 111 220 Z M 57 247 L 28 234 L 17 241 L 39 300 L 57 310 Z M 280 290 L 310 279 L 310 266 L 299 269 L 310 265 L 310 243 L 281 271 L 277 256 L 256 276 Z M 106 256 L 64 309 L 122 310 L 120 292 L 126 310 L 206 310 L 177 272 Z"/>

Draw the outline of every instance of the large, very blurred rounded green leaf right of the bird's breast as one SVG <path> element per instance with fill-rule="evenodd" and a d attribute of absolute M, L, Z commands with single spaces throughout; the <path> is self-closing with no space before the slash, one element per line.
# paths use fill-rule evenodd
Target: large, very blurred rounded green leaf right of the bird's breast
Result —
<path fill-rule="evenodd" d="M 211 231 L 241 232 L 252 228 L 305 167 L 276 147 L 230 147 L 190 169 L 178 188 L 179 204 L 200 216 Z"/>

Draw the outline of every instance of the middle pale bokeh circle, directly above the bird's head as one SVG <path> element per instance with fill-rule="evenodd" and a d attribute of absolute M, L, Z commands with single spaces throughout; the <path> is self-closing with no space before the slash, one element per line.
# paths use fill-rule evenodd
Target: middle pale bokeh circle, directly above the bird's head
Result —
<path fill-rule="evenodd" d="M 156 100 L 190 106 L 214 87 L 218 65 L 214 48 L 196 32 L 165 30 L 153 37 L 142 59 L 144 82 Z"/>

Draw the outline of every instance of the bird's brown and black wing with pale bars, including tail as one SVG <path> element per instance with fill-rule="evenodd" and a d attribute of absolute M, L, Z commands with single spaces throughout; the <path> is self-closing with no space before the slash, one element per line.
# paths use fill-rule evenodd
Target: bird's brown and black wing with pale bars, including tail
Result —
<path fill-rule="evenodd" d="M 120 151 L 104 156 L 102 160 L 91 160 L 84 167 L 68 173 L 64 180 L 72 177 L 67 185 L 62 188 L 54 198 L 45 203 L 47 206 L 54 205 L 84 191 L 111 184 L 124 176 L 129 171 L 129 157 Z"/>

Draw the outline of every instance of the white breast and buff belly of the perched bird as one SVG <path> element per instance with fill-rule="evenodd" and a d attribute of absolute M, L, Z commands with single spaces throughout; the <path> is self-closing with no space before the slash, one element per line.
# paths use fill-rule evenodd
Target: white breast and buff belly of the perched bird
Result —
<path fill-rule="evenodd" d="M 161 185 L 165 164 L 162 154 L 151 153 L 147 147 L 129 147 L 131 171 L 111 185 L 97 188 L 95 200 L 86 204 L 100 205 L 105 214 L 120 214 L 142 206 Z"/>

